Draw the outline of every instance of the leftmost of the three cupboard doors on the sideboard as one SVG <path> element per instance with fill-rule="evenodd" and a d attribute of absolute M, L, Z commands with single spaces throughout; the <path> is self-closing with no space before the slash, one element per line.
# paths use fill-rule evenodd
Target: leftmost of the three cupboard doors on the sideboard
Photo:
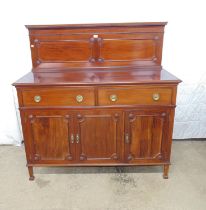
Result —
<path fill-rule="evenodd" d="M 49 163 L 75 159 L 70 114 L 60 111 L 33 111 L 27 115 L 27 126 L 33 161 Z"/>

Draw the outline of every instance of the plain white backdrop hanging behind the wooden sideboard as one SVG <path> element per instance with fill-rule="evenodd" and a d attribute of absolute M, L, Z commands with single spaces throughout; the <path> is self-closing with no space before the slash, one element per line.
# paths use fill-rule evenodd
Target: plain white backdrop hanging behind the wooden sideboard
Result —
<path fill-rule="evenodd" d="M 206 138 L 204 0 L 26 0 L 0 3 L 0 144 L 22 140 L 11 83 L 31 69 L 25 24 L 168 21 L 163 66 L 179 86 L 174 138 Z"/>

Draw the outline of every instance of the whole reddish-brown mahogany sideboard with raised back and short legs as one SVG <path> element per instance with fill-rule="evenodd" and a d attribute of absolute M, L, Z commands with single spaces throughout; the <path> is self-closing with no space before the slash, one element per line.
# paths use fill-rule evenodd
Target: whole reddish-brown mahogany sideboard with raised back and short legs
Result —
<path fill-rule="evenodd" d="M 165 22 L 27 25 L 32 71 L 16 81 L 27 166 L 163 166 L 177 85 Z"/>

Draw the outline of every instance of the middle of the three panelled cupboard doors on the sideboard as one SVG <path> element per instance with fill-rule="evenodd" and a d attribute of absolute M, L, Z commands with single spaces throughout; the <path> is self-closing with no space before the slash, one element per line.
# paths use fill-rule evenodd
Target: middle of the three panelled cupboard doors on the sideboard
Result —
<path fill-rule="evenodd" d="M 77 160 L 84 163 L 112 163 L 121 159 L 121 112 L 79 111 L 75 124 Z"/>

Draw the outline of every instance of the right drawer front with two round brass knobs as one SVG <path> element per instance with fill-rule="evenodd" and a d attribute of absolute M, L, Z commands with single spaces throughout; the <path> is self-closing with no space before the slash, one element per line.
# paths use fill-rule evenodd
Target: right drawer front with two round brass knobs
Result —
<path fill-rule="evenodd" d="M 172 88 L 128 87 L 100 88 L 99 105 L 169 105 L 172 103 Z"/>

